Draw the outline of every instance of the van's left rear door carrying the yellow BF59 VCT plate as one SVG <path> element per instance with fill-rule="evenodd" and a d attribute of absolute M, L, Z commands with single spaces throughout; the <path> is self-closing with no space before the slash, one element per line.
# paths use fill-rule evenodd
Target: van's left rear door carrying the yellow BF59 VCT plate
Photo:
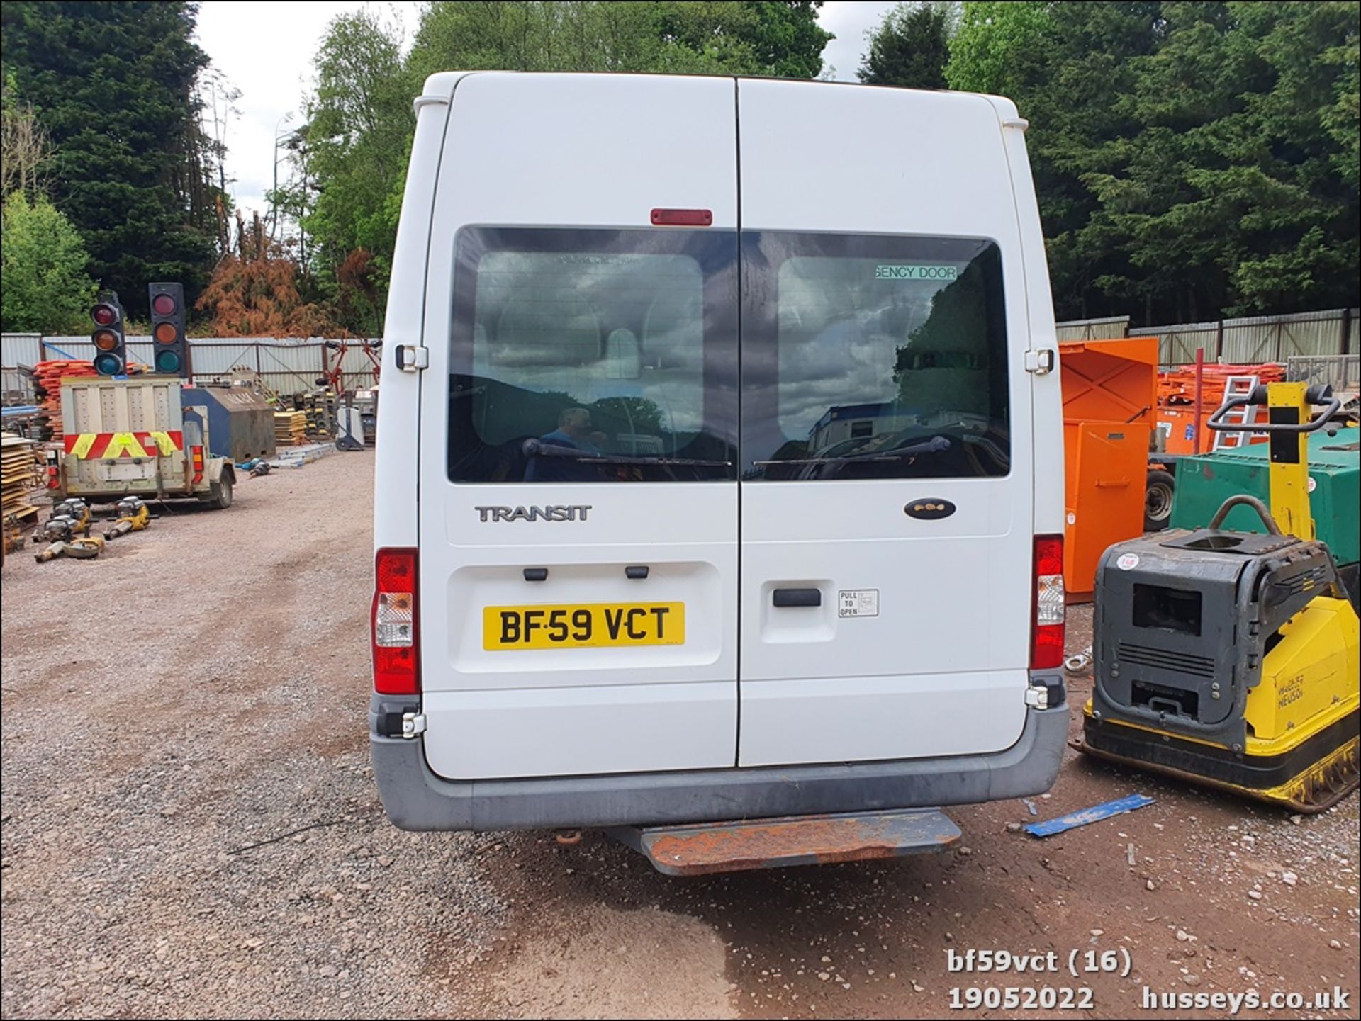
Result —
<path fill-rule="evenodd" d="M 734 764 L 734 88 L 476 73 L 455 90 L 419 450 L 442 776 Z M 708 223 L 653 226 L 663 208 Z"/>

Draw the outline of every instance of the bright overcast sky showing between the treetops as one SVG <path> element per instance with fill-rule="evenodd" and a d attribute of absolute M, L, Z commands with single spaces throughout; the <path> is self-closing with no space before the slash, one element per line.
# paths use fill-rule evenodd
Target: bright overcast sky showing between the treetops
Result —
<path fill-rule="evenodd" d="M 199 8 L 199 45 L 212 58 L 212 67 L 241 90 L 241 110 L 227 135 L 229 189 L 241 209 L 264 211 L 264 193 L 274 185 L 276 135 L 299 120 L 302 97 L 312 77 L 312 58 L 327 23 L 338 14 L 370 4 L 304 1 L 203 0 Z M 408 38 L 416 24 L 416 4 L 372 4 L 391 14 L 406 27 Z M 818 19 L 836 34 L 822 52 L 836 77 L 853 82 L 864 33 L 883 18 L 891 3 L 832 0 Z M 452 68 L 450 68 L 452 69 Z M 291 121 L 289 114 L 293 114 Z M 286 174 L 286 167 L 279 167 Z"/>

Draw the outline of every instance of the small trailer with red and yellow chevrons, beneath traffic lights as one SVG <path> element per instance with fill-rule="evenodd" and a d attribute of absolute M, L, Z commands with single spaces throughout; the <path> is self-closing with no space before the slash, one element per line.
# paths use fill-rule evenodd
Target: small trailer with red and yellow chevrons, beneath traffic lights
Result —
<path fill-rule="evenodd" d="M 211 453 L 208 408 L 180 377 L 71 377 L 61 381 L 63 449 L 52 451 L 56 499 L 108 503 L 136 495 L 231 506 L 231 461 Z"/>

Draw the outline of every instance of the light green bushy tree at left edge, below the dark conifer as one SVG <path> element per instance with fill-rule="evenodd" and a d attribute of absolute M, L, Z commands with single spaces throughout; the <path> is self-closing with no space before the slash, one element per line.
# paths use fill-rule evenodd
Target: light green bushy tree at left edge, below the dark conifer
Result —
<path fill-rule="evenodd" d="M 75 227 L 44 196 L 11 192 L 0 212 L 0 324 L 8 332 L 79 332 L 88 325 L 94 281 Z"/>

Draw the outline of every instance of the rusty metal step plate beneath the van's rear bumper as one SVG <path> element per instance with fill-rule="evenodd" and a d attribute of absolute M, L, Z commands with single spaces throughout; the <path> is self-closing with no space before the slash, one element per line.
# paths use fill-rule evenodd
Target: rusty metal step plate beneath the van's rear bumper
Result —
<path fill-rule="evenodd" d="M 901 858 L 960 843 L 960 828 L 938 809 L 619 827 L 608 833 L 645 854 L 667 876 Z"/>

